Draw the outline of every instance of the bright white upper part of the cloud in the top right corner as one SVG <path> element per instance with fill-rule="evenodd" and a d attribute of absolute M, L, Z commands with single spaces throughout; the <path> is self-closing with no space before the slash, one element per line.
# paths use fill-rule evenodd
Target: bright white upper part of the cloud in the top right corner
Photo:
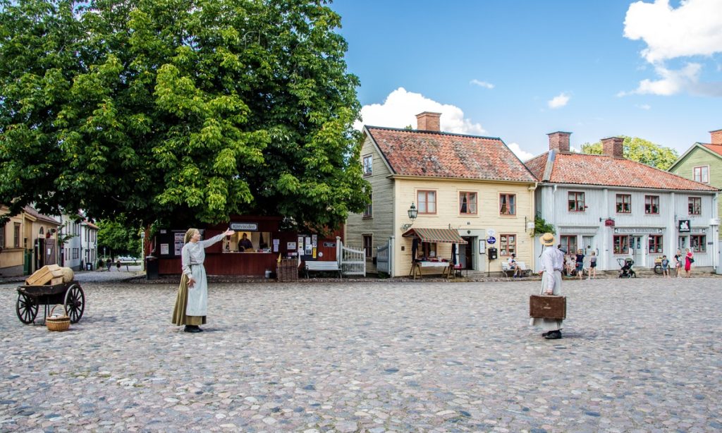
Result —
<path fill-rule="evenodd" d="M 722 0 L 636 1 L 625 17 L 625 38 L 643 40 L 649 63 L 686 56 L 722 53 Z"/>

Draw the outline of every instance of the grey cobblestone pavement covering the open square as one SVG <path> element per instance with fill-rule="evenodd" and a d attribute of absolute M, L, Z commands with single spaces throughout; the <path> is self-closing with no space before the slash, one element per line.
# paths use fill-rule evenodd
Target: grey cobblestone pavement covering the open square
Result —
<path fill-rule="evenodd" d="M 83 284 L 64 333 L 0 287 L 0 431 L 722 430 L 721 279 L 212 284 L 204 332 L 175 284 Z"/>

